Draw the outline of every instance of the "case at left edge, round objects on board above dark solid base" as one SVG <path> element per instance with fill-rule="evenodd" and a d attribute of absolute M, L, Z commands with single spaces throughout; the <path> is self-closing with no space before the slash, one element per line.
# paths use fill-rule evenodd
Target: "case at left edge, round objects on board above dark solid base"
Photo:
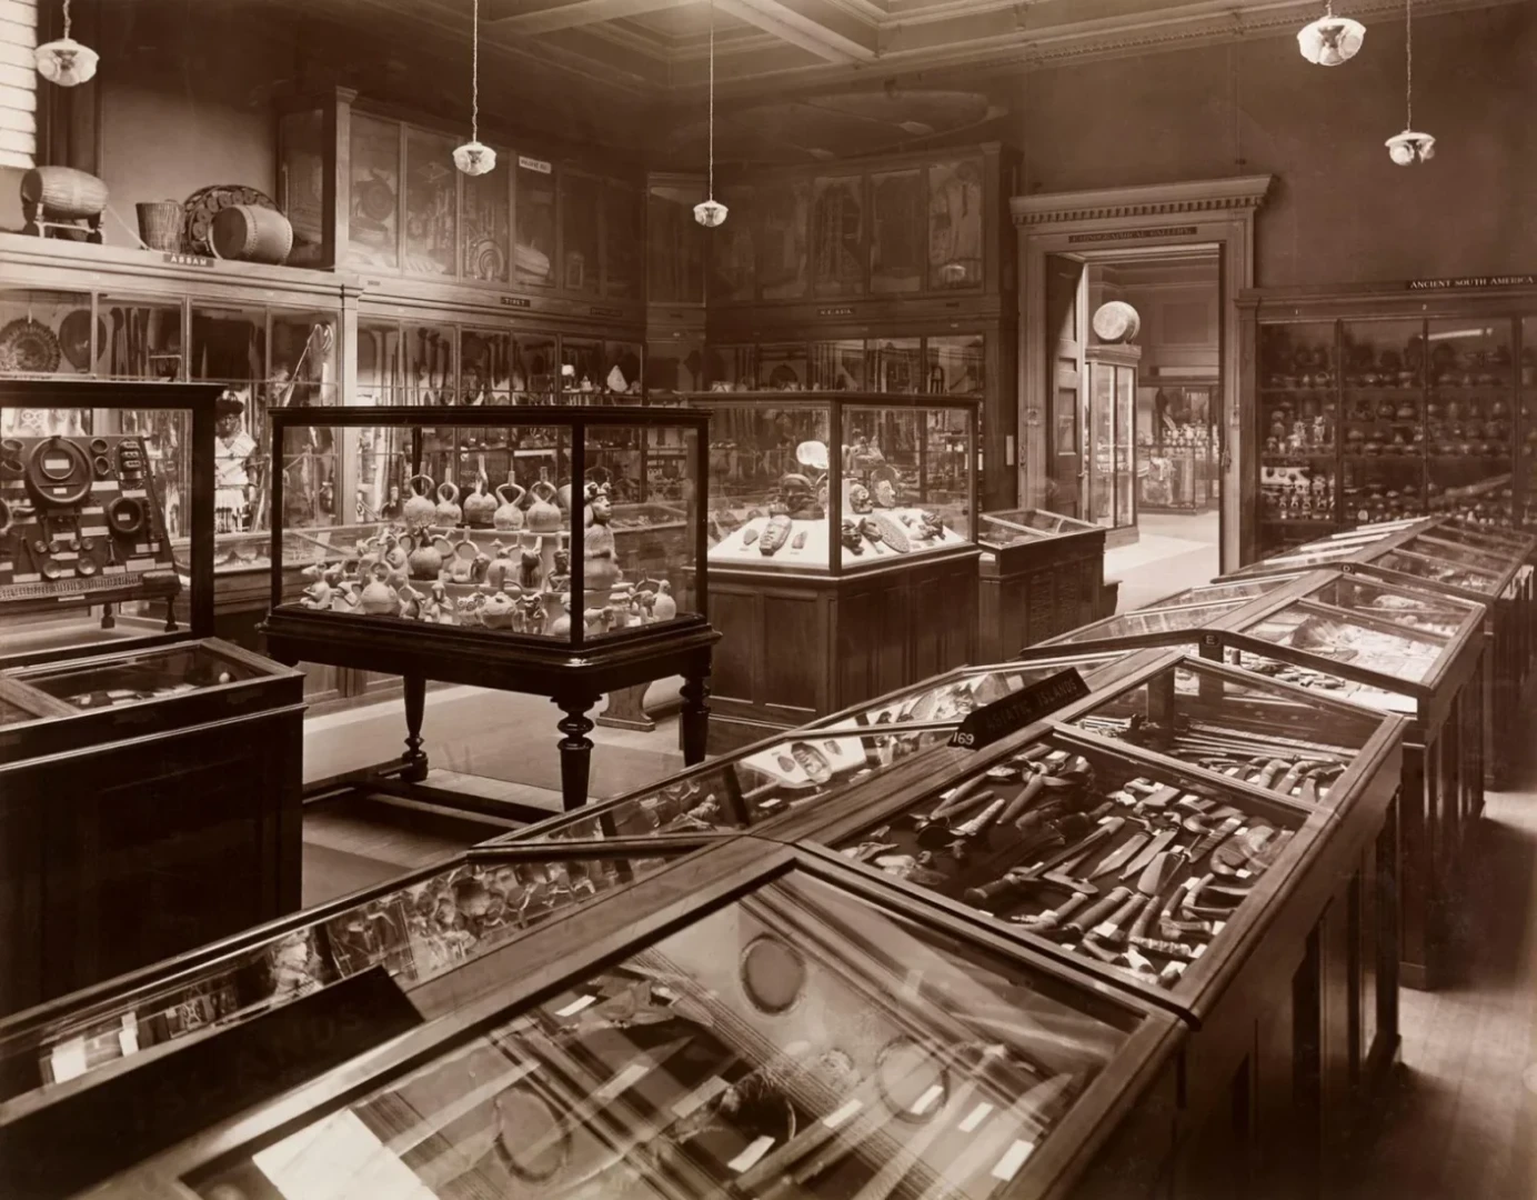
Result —
<path fill-rule="evenodd" d="M 212 635 L 217 395 L 0 380 L 5 1011 L 300 903 L 301 677 Z"/>

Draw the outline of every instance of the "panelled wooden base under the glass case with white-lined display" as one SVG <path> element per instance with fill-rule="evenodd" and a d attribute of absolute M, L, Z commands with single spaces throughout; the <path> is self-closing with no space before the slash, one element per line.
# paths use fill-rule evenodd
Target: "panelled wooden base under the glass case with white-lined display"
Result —
<path fill-rule="evenodd" d="M 974 548 L 847 575 L 710 569 L 721 754 L 976 660 Z"/>

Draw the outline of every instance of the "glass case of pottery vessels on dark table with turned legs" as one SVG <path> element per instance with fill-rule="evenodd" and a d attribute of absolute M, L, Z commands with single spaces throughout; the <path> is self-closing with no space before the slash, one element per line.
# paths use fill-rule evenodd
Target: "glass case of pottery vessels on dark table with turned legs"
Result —
<path fill-rule="evenodd" d="M 330 465 L 321 486 L 355 495 L 375 522 L 352 546 L 318 554 L 298 598 L 275 568 L 263 632 L 286 662 L 404 678 L 407 749 L 377 782 L 432 789 L 427 680 L 552 697 L 566 714 L 567 805 L 586 803 L 587 712 L 606 692 L 682 675 L 684 754 L 702 754 L 718 638 L 705 617 L 702 414 L 395 406 L 320 420 L 280 412 L 274 440 L 284 454 L 314 448 L 314 462 Z M 639 474 L 653 460 L 679 466 L 653 482 Z M 280 515 L 274 542 L 287 532 Z"/>

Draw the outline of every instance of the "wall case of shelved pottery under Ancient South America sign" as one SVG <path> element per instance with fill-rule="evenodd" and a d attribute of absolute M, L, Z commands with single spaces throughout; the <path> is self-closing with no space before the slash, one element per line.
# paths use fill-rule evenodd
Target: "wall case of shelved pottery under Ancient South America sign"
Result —
<path fill-rule="evenodd" d="M 1526 518 L 1537 451 L 1529 288 L 1259 291 L 1240 298 L 1243 560 L 1423 514 Z"/>

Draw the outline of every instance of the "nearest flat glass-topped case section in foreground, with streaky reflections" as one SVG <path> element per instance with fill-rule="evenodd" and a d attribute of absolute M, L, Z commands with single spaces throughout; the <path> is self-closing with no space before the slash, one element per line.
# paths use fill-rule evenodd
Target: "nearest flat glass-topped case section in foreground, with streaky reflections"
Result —
<path fill-rule="evenodd" d="M 1167 1017 L 819 855 L 736 851 L 733 891 L 673 905 L 672 928 L 606 957 L 532 934 L 538 975 L 112 1186 L 304 1195 L 344 1169 L 420 1197 L 916 1198 L 1168 1169 Z"/>

